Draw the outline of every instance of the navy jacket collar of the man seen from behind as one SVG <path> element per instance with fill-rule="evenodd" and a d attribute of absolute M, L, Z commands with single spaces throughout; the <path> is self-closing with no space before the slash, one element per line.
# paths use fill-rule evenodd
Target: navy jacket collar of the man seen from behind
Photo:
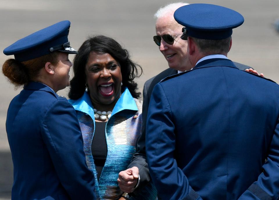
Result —
<path fill-rule="evenodd" d="M 229 59 L 212 58 L 212 59 L 207 59 L 207 60 L 201 61 L 193 69 L 205 68 L 205 67 L 215 67 L 215 66 L 225 66 L 225 67 L 237 68 L 235 66 L 235 64 Z"/>

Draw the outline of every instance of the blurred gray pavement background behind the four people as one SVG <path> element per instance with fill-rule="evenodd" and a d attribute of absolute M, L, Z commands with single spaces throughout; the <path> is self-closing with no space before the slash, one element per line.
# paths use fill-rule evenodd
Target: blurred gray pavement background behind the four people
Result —
<path fill-rule="evenodd" d="M 78 49 L 90 35 L 113 37 L 140 64 L 144 73 L 137 79 L 142 91 L 144 82 L 168 67 L 153 42 L 156 10 L 167 0 L 0 0 L 0 50 L 16 40 L 58 21 L 71 21 L 69 41 Z M 176 2 L 176 1 L 173 1 Z M 233 30 L 232 49 L 228 57 L 255 68 L 279 82 L 279 34 L 272 24 L 279 18 L 278 0 L 187 1 L 212 3 L 237 10 L 244 24 Z M 0 64 L 10 58 L 0 53 Z M 71 56 L 70 59 L 73 59 Z M 12 160 L 5 130 L 10 100 L 20 92 L 14 90 L 0 73 L 0 200 L 10 199 Z M 245 86 L 244 86 L 245 87 Z M 67 96 L 68 89 L 58 93 Z"/>

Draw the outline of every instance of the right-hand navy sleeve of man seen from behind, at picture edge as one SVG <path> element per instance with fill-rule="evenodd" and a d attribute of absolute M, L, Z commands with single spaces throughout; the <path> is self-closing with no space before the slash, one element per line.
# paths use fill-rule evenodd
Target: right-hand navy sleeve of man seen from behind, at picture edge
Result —
<path fill-rule="evenodd" d="M 271 140 L 263 172 L 239 198 L 239 200 L 279 199 L 279 120 Z"/>

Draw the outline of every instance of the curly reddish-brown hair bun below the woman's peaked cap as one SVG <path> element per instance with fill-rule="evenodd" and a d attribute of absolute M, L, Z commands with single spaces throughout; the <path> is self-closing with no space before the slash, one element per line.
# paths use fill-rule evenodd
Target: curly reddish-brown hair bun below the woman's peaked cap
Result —
<path fill-rule="evenodd" d="M 16 88 L 28 82 L 28 70 L 21 62 L 15 59 L 6 60 L 3 64 L 2 72 Z"/>

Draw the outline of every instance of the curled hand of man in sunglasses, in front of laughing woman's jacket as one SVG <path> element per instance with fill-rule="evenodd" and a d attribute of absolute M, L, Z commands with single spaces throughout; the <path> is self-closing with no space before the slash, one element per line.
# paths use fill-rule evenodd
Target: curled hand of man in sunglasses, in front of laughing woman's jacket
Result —
<path fill-rule="evenodd" d="M 118 185 L 123 192 L 131 193 L 135 190 L 139 178 L 139 168 L 132 167 L 118 174 Z"/>

